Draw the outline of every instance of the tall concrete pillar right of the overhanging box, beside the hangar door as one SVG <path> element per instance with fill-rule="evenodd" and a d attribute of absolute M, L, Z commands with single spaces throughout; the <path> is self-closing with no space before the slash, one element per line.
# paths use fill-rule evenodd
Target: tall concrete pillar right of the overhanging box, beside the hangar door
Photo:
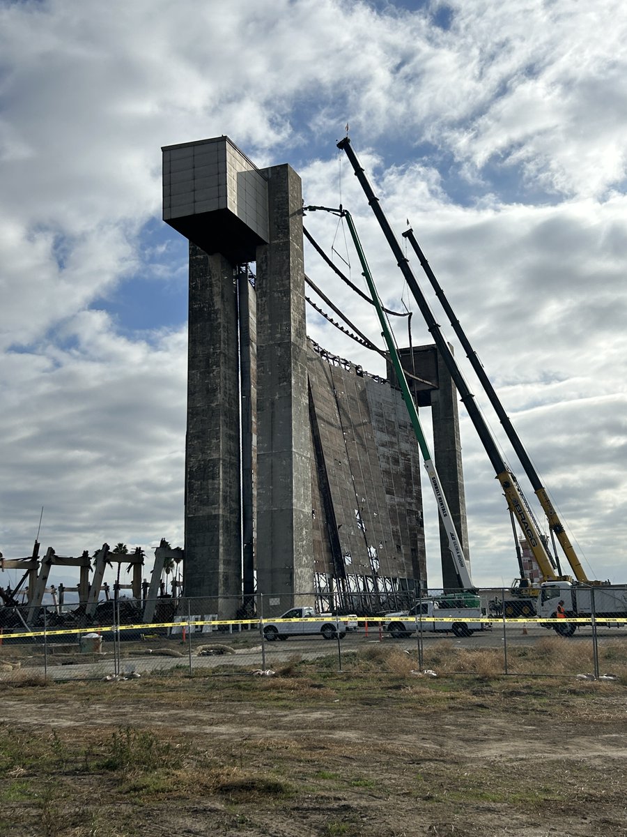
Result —
<path fill-rule="evenodd" d="M 268 244 L 257 247 L 257 590 L 278 608 L 314 587 L 300 178 L 268 177 Z"/>

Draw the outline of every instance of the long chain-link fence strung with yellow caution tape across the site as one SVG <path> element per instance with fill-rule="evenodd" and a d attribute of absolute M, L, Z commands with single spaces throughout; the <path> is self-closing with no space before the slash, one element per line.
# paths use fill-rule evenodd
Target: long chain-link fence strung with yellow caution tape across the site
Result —
<path fill-rule="evenodd" d="M 359 672 L 364 661 L 412 676 L 627 676 L 627 618 L 594 608 L 585 616 L 539 618 L 537 598 L 512 598 L 505 588 L 476 596 L 431 591 L 400 603 L 351 594 L 352 613 L 322 613 L 319 601 L 316 593 L 289 600 L 258 593 L 243 604 L 118 598 L 90 611 L 0 608 L 0 683 L 268 675 L 294 665 Z"/>

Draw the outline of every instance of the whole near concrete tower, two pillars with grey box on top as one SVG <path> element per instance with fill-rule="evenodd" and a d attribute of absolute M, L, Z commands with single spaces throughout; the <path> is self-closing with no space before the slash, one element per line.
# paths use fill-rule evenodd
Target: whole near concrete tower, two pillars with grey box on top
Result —
<path fill-rule="evenodd" d="M 257 588 L 288 606 L 312 588 L 300 179 L 257 169 L 227 136 L 162 151 L 163 218 L 190 241 L 183 592 L 237 609 L 256 507 Z M 241 279 L 253 261 L 258 311 Z"/>

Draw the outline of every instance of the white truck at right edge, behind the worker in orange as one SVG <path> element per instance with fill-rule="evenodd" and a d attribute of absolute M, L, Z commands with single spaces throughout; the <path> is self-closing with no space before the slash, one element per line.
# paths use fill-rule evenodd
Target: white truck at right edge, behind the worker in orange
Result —
<path fill-rule="evenodd" d="M 558 603 L 563 601 L 564 618 L 545 625 L 562 636 L 572 636 L 585 623 L 572 619 L 591 618 L 609 627 L 627 627 L 627 586 L 624 584 L 581 584 L 548 581 L 540 585 L 538 616 L 558 619 Z"/>

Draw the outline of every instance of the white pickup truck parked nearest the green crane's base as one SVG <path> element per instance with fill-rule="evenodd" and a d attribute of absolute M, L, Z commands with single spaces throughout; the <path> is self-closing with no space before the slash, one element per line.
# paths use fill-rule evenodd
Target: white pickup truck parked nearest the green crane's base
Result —
<path fill-rule="evenodd" d="M 422 617 L 422 619 L 416 617 Z M 451 608 L 436 599 L 423 599 L 410 610 L 385 614 L 381 627 L 394 639 L 409 636 L 420 629 L 432 634 L 447 634 L 451 631 L 461 637 L 472 636 L 474 631 L 486 629 L 487 623 L 467 621 L 481 618 L 480 607 Z"/>

